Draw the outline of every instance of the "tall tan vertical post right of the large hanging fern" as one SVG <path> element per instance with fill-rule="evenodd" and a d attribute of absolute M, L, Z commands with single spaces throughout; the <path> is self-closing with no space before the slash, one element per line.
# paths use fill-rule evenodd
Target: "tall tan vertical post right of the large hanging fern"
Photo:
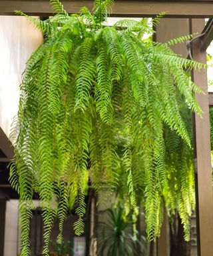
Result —
<path fill-rule="evenodd" d="M 191 33 L 200 33 L 204 28 L 204 19 L 192 19 Z M 201 39 L 192 44 L 192 56 L 195 61 L 206 63 L 206 52 L 200 51 Z M 198 256 L 210 256 L 213 253 L 213 199 L 212 167 L 210 159 L 210 121 L 208 109 L 207 71 L 192 71 L 192 79 L 204 91 L 196 95 L 202 108 L 202 118 L 194 115 L 195 179 L 196 179 L 196 221 L 198 234 Z"/>

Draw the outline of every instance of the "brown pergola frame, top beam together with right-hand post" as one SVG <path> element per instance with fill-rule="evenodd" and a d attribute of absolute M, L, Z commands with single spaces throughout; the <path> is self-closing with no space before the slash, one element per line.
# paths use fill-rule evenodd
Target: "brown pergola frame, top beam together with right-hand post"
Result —
<path fill-rule="evenodd" d="M 65 9 L 69 13 L 77 13 L 83 6 L 93 8 L 91 0 L 64 0 Z M 15 15 L 14 10 L 21 10 L 29 15 L 47 17 L 53 15 L 48 0 L 0 0 L 0 15 Z M 192 57 L 196 61 L 206 63 L 206 49 L 213 39 L 213 0 L 115 0 L 112 9 L 113 17 L 154 17 L 164 11 L 165 18 L 188 19 L 187 26 L 190 33 L 200 33 L 190 43 Z M 210 18 L 205 26 L 205 18 Z M 174 31 L 172 22 L 167 23 L 166 28 Z M 156 29 L 156 40 L 164 39 L 165 28 Z M 183 27 L 175 28 L 181 32 Z M 173 34 L 172 34 L 173 35 Z M 183 56 L 187 57 L 187 56 Z M 192 71 L 192 79 L 199 85 L 205 94 L 196 95 L 200 107 L 203 110 L 202 118 L 194 115 L 194 173 L 196 178 L 196 220 L 198 234 L 198 255 L 213 255 L 213 198 L 212 198 L 212 167 L 210 159 L 210 121 L 209 105 L 213 105 L 213 94 L 208 94 L 206 70 Z M 3 136 L 0 129 L 1 147 L 5 156 L 0 154 L 1 159 L 9 159 L 12 155 L 12 147 Z M 1 151 L 0 151 L 1 153 Z M 1 191 L 0 184 L 0 191 Z M 158 241 L 158 256 L 167 256 L 166 239 L 164 230 Z M 180 255 L 181 256 L 181 255 Z"/>

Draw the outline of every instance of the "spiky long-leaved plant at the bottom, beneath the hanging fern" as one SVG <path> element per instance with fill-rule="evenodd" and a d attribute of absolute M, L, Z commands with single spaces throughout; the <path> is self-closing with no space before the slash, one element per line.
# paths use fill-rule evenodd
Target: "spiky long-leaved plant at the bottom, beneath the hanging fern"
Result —
<path fill-rule="evenodd" d="M 132 218 L 124 215 L 121 205 L 112 205 L 99 214 L 105 221 L 97 224 L 98 255 L 145 255 L 145 235 L 138 231 L 134 235 Z"/>

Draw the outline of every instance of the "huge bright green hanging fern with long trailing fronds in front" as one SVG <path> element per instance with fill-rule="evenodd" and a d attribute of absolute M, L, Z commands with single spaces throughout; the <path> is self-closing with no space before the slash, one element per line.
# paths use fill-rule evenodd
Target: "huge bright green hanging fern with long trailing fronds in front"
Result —
<path fill-rule="evenodd" d="M 190 147 L 177 95 L 201 113 L 194 99 L 200 89 L 184 70 L 202 64 L 169 48 L 189 37 L 167 43 L 143 40 L 152 33 L 146 18 L 105 25 L 112 0 L 95 0 L 93 14 L 83 7 L 78 15 L 68 15 L 58 0 L 50 2 L 56 15 L 45 21 L 28 17 L 45 39 L 27 61 L 11 133 L 10 181 L 20 195 L 21 255 L 31 254 L 34 193 L 43 209 L 43 255 L 49 253 L 55 217 L 61 243 L 63 222 L 74 205 L 79 216 L 75 233 L 83 233 L 89 178 L 96 191 L 115 191 L 124 180 L 126 204 L 135 214 L 140 195 L 148 239 L 153 240 L 160 233 L 164 192 L 174 189 L 168 184 L 164 127 Z M 184 200 L 187 187 L 178 189 Z M 188 207 L 182 205 L 183 222 Z"/>

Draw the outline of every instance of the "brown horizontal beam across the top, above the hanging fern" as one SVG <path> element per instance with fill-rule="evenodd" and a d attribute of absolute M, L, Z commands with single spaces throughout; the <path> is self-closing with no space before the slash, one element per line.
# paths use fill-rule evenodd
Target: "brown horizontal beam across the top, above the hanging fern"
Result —
<path fill-rule="evenodd" d="M 69 13 L 78 13 L 83 6 L 93 9 L 91 0 L 64 0 L 65 9 Z M 124 1 L 116 0 L 112 16 L 116 17 L 153 17 L 166 12 L 165 17 L 213 17 L 213 1 Z M 21 10 L 29 15 L 53 15 L 48 0 L 0 0 L 0 15 L 15 15 L 15 10 Z"/>

